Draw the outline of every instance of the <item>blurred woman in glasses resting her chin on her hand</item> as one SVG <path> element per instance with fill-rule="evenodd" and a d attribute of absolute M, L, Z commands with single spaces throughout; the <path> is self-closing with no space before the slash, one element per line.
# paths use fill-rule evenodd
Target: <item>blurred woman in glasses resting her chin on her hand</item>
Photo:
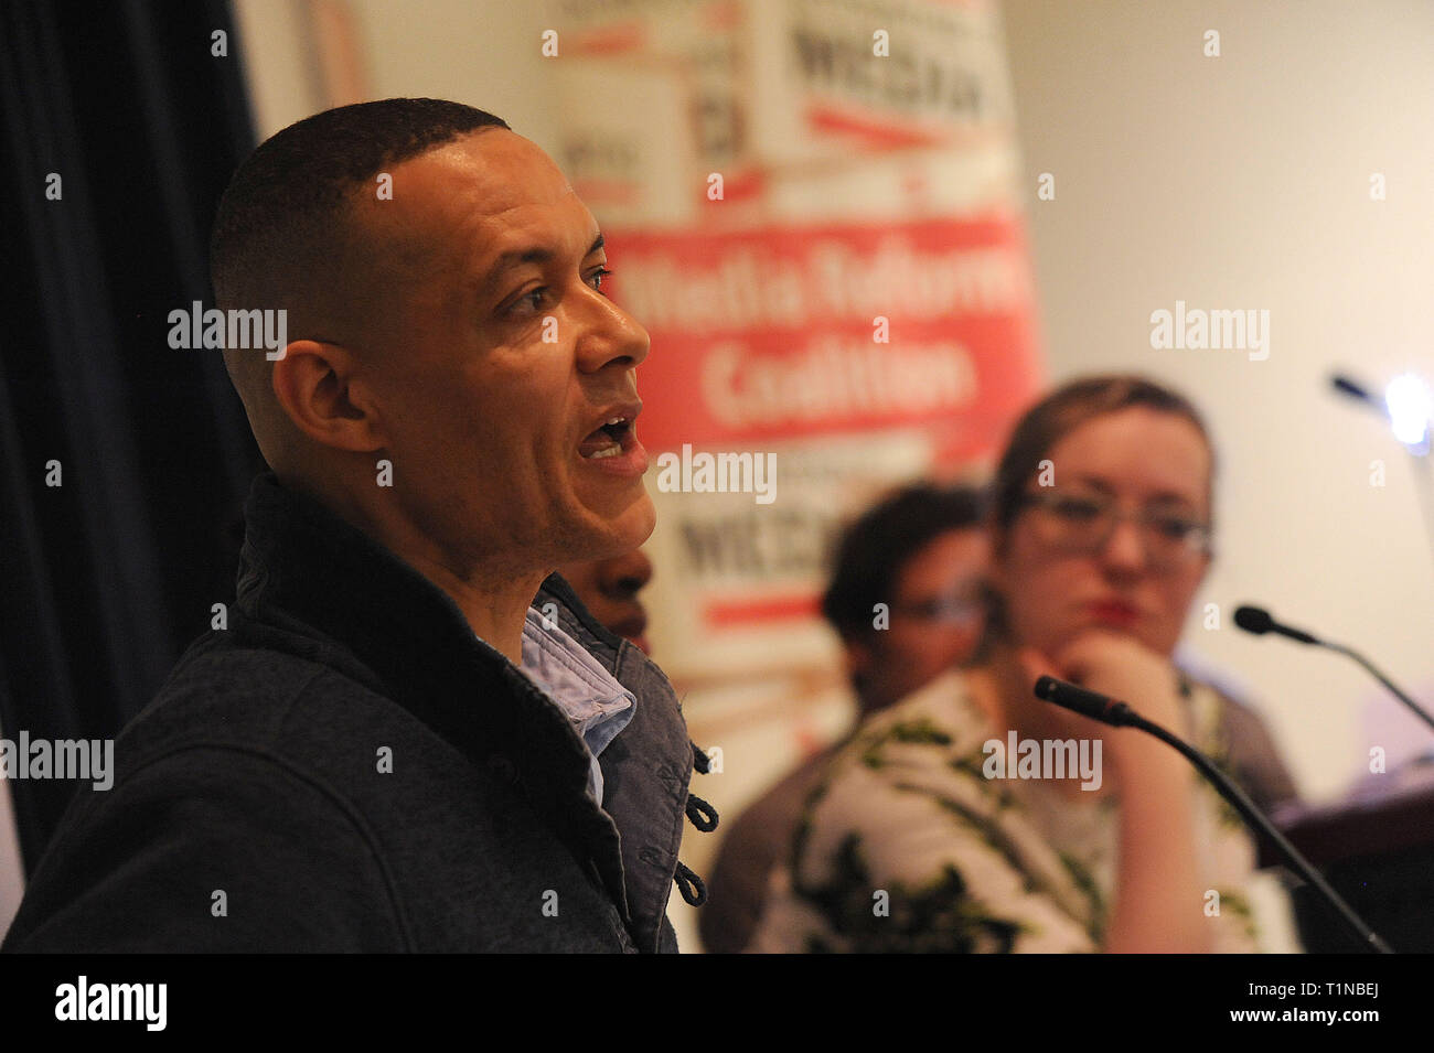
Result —
<path fill-rule="evenodd" d="M 751 950 L 1260 950 L 1255 842 L 1225 801 L 1164 744 L 1031 693 L 1043 673 L 1084 683 L 1238 779 L 1263 756 L 1278 775 L 1256 799 L 1292 792 L 1258 719 L 1174 659 L 1213 556 L 1213 470 L 1196 410 L 1139 377 L 1027 411 L 992 483 L 988 652 L 830 761 Z"/>

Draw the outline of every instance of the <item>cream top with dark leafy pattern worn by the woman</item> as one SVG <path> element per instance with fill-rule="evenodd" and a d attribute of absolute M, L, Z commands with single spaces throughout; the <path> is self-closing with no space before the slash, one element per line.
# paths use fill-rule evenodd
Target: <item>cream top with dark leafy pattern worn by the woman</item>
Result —
<path fill-rule="evenodd" d="M 1195 744 L 1225 768 L 1219 696 L 1189 682 L 1183 693 Z M 747 950 L 1100 950 L 1116 880 L 1116 794 L 1084 799 L 1050 779 L 987 778 L 989 739 L 1004 741 L 961 672 L 868 718 L 807 798 Z M 1193 769 L 1190 778 L 1209 890 L 1192 910 L 1215 925 L 1216 951 L 1258 951 L 1243 893 L 1255 841 Z"/>

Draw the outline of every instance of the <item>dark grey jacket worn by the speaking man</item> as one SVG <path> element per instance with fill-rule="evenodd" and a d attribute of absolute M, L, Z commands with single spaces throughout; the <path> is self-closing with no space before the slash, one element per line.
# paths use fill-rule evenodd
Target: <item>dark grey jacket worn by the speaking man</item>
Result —
<path fill-rule="evenodd" d="M 545 582 L 637 696 L 598 808 L 568 719 L 446 593 L 272 473 L 245 517 L 228 629 L 72 802 L 4 950 L 675 951 L 684 809 L 711 824 L 663 672 Z"/>

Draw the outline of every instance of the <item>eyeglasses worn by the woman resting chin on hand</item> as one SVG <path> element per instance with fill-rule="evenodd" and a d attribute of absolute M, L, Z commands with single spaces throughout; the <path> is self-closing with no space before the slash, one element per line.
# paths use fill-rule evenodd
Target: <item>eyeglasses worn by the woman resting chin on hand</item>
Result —
<path fill-rule="evenodd" d="M 1106 547 L 1116 524 L 1131 520 L 1140 529 L 1152 567 L 1183 567 L 1212 550 L 1210 524 L 1187 513 L 1146 507 L 1123 511 L 1104 494 L 1027 493 L 1021 506 L 1035 509 L 1034 524 L 1041 542 L 1070 553 L 1093 553 Z"/>

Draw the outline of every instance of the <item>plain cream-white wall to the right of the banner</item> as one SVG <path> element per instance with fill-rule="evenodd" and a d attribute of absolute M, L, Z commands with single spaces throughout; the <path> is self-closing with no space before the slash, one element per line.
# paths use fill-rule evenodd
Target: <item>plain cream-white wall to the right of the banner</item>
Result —
<path fill-rule="evenodd" d="M 1219 603 L 1225 623 L 1192 622 L 1186 639 L 1249 683 L 1301 789 L 1329 798 L 1369 745 L 1434 735 L 1347 660 L 1246 636 L 1229 615 L 1262 603 L 1365 648 L 1434 703 L 1434 567 L 1410 457 L 1326 384 L 1338 367 L 1434 381 L 1434 6 L 1004 10 L 1053 380 L 1141 370 L 1207 414 L 1220 556 L 1199 603 Z M 1209 29 L 1217 59 L 1202 54 Z M 1041 172 L 1054 201 L 1035 198 Z M 1369 199 L 1372 172 L 1384 202 Z M 1152 350 L 1150 312 L 1176 299 L 1269 309 L 1269 358 Z M 1364 731 L 1367 699 L 1388 735 Z"/>

